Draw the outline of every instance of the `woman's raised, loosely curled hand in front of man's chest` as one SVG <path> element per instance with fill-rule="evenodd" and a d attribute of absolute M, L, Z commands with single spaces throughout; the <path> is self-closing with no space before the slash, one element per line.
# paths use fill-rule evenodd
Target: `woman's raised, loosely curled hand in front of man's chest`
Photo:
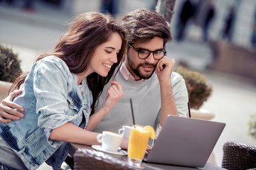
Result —
<path fill-rule="evenodd" d="M 114 107 L 114 105 L 119 101 L 119 99 L 124 95 L 122 91 L 122 86 L 116 80 L 110 81 L 109 89 L 107 89 L 107 97 L 105 102 L 102 104 L 102 109 L 105 110 L 105 113 L 109 113 L 110 110 Z"/>

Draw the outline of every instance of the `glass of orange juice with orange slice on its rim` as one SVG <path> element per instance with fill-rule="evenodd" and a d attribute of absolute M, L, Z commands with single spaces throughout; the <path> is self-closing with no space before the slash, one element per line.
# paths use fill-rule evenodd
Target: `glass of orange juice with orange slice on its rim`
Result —
<path fill-rule="evenodd" d="M 128 162 L 130 165 L 141 167 L 142 159 L 149 143 L 149 137 L 156 137 L 154 128 L 151 126 L 134 125 L 129 136 Z"/>

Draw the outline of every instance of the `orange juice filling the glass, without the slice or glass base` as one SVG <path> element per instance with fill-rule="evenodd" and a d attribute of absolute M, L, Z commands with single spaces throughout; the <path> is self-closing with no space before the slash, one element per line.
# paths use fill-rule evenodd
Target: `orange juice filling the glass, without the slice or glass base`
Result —
<path fill-rule="evenodd" d="M 143 130 L 143 127 L 136 126 L 132 128 L 129 145 L 128 145 L 128 157 L 132 159 L 143 159 L 146 152 L 146 147 L 149 143 L 149 132 Z"/>

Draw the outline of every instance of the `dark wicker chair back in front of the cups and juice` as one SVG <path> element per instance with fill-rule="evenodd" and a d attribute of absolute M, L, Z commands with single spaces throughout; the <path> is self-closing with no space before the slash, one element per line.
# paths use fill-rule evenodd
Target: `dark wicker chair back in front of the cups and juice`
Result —
<path fill-rule="evenodd" d="M 78 149 L 74 154 L 74 169 L 106 169 L 106 170 L 132 170 L 131 166 L 124 161 L 114 157 L 110 157 L 102 152 L 91 149 Z"/>

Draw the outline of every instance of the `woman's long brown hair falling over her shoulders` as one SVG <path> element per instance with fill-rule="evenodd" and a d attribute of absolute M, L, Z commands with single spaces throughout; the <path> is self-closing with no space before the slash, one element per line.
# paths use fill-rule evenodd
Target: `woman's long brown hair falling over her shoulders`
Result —
<path fill-rule="evenodd" d="M 103 87 L 110 81 L 115 69 L 117 67 L 119 69 L 120 62 L 123 60 L 127 50 L 127 32 L 122 26 L 108 14 L 97 12 L 82 13 L 70 24 L 68 32 L 60 38 L 53 52 L 40 55 L 36 60 L 54 55 L 68 65 L 70 72 L 79 74 L 87 69 L 95 49 L 102 43 L 107 42 L 112 33 L 119 33 L 122 38 L 122 47 L 117 57 L 117 63 L 112 65 L 107 77 L 101 77 L 95 72 L 87 77 L 87 84 L 93 96 L 92 113 L 95 112 L 96 101 L 102 93 Z M 26 72 L 18 77 L 9 92 L 18 89 L 25 81 L 28 73 Z"/>

